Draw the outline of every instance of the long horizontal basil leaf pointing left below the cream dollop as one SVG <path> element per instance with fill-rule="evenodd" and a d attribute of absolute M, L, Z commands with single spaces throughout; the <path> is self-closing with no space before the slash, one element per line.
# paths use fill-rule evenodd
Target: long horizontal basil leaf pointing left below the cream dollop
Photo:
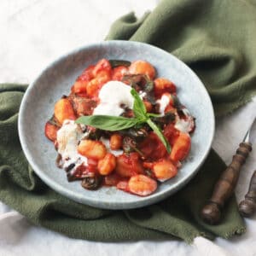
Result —
<path fill-rule="evenodd" d="M 91 125 L 106 131 L 119 131 L 137 125 L 137 119 L 127 119 L 111 115 L 87 115 L 75 121 L 77 124 Z"/>

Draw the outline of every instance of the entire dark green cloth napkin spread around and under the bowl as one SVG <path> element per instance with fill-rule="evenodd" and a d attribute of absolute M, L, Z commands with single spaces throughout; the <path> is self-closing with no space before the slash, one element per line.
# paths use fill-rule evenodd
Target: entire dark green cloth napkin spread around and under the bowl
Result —
<path fill-rule="evenodd" d="M 108 39 L 143 41 L 177 55 L 206 84 L 216 113 L 224 114 L 255 95 L 255 14 L 253 4 L 246 1 L 166 0 L 142 20 L 133 14 L 117 20 Z M 221 224 L 204 224 L 199 216 L 225 168 L 213 150 L 185 188 L 150 207 L 102 210 L 49 189 L 20 148 L 17 119 L 25 90 L 22 84 L 0 84 L 0 200 L 33 224 L 93 241 L 179 238 L 191 242 L 195 236 L 229 238 L 245 231 L 235 196 L 224 208 Z"/>

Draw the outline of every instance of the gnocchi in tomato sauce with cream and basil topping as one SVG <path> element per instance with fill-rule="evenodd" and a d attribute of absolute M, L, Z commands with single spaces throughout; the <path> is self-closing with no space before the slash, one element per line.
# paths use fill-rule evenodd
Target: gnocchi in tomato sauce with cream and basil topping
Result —
<path fill-rule="evenodd" d="M 177 175 L 194 130 L 176 85 L 151 63 L 106 59 L 84 69 L 44 128 L 68 181 L 140 196 Z"/>

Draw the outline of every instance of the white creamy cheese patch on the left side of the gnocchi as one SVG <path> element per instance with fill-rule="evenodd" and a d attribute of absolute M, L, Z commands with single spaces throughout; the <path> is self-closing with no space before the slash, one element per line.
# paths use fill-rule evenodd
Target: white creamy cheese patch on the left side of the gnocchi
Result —
<path fill-rule="evenodd" d="M 87 166 L 87 158 L 78 153 L 78 144 L 84 133 L 73 120 L 65 120 L 57 131 L 58 153 L 61 154 L 63 167 L 71 164 Z"/>

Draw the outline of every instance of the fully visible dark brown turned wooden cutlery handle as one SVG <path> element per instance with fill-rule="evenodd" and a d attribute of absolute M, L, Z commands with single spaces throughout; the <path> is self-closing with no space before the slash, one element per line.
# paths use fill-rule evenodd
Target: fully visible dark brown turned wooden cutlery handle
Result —
<path fill-rule="evenodd" d="M 230 166 L 228 166 L 219 177 L 213 189 L 210 201 L 201 210 L 201 218 L 208 224 L 218 224 L 224 203 L 234 192 L 241 166 L 245 163 L 251 151 L 251 143 L 240 143 Z"/>

